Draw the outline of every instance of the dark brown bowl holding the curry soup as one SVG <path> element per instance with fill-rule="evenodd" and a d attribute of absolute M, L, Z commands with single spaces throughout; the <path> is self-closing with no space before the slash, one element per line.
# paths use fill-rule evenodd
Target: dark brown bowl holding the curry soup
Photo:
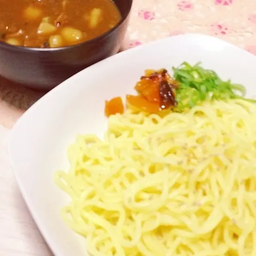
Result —
<path fill-rule="evenodd" d="M 117 53 L 126 33 L 133 0 L 114 2 L 122 15 L 121 21 L 90 41 L 54 49 L 0 42 L 0 75 L 30 88 L 50 90 L 82 69 Z"/>

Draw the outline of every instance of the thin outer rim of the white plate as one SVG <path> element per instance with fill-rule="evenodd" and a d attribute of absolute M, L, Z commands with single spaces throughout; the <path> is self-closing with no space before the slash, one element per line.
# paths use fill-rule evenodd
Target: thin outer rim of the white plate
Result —
<path fill-rule="evenodd" d="M 97 65 L 104 65 L 104 63 L 107 63 L 108 61 L 110 61 L 110 59 L 115 59 L 114 61 L 116 61 L 119 57 L 122 57 L 123 55 L 125 56 L 125 55 L 129 54 L 128 52 L 140 51 L 142 48 L 148 48 L 148 47 L 152 47 L 153 45 L 156 45 L 156 44 L 161 44 L 162 42 L 172 41 L 173 38 L 177 38 L 177 37 L 180 37 L 181 40 L 182 40 L 182 38 L 183 38 L 183 40 L 185 40 L 186 38 L 189 38 L 190 40 L 191 40 L 191 38 L 195 38 L 196 41 L 200 41 L 201 38 L 208 38 L 208 40 L 219 42 L 222 45 L 226 45 L 229 48 L 231 47 L 233 49 L 244 52 L 244 53 L 246 53 L 248 55 L 251 55 L 254 58 L 256 58 L 256 56 L 254 56 L 249 51 L 246 51 L 243 48 L 239 48 L 238 46 L 236 46 L 234 44 L 231 44 L 227 41 L 221 40 L 218 37 L 214 37 L 214 36 L 210 36 L 210 35 L 205 35 L 205 34 L 201 34 L 201 33 L 185 33 L 185 34 L 165 37 L 165 38 L 162 38 L 160 40 L 156 40 L 156 41 L 153 41 L 153 42 L 150 42 L 150 43 L 146 43 L 146 44 L 143 44 L 143 45 L 136 46 L 135 48 L 132 48 L 132 49 L 128 49 L 128 50 L 119 52 L 116 55 L 113 55 L 113 56 L 110 56 L 110 57 L 108 57 L 104 60 L 101 60 L 98 63 L 96 63 L 94 65 L 91 65 L 87 68 L 84 68 L 82 71 L 80 71 L 80 72 L 76 73 L 75 75 L 69 77 L 67 80 L 60 83 L 57 87 L 53 88 L 51 91 L 47 92 L 43 97 L 38 99 L 37 102 L 35 102 L 32 106 L 30 106 L 28 108 L 28 110 L 24 114 L 21 115 L 21 117 L 17 120 L 17 122 L 15 122 L 14 126 L 9 131 L 9 134 L 7 135 L 6 149 L 7 149 L 7 158 L 9 159 L 9 164 L 10 164 L 10 167 L 12 169 L 12 173 L 15 177 L 15 180 L 17 181 L 18 188 L 20 190 L 22 198 L 24 199 L 24 201 L 26 203 L 26 206 L 29 210 L 29 213 L 31 214 L 31 216 L 32 216 L 32 218 L 33 218 L 33 220 L 36 224 L 36 227 L 40 231 L 44 241 L 49 246 L 53 255 L 61 256 L 60 253 L 58 252 L 58 246 L 56 246 L 56 244 L 52 242 L 52 239 L 48 236 L 48 233 L 49 233 L 48 230 L 44 228 L 43 223 L 41 223 L 41 220 L 40 220 L 40 218 L 38 217 L 38 215 L 36 213 L 36 209 L 34 208 L 33 204 L 30 204 L 29 196 L 27 195 L 27 192 L 26 192 L 26 189 L 25 189 L 26 186 L 24 186 L 24 184 L 19 179 L 18 167 L 15 166 L 15 164 L 14 164 L 15 160 L 13 160 L 13 158 L 12 158 L 11 144 L 13 144 L 12 142 L 13 142 L 13 139 L 14 139 L 13 138 L 14 134 L 16 134 L 19 131 L 19 127 L 22 125 L 22 123 L 26 122 L 27 117 L 29 117 L 34 111 L 36 111 L 37 107 L 44 104 L 48 100 L 49 97 L 54 96 L 54 95 L 58 94 L 59 91 L 66 90 L 68 87 L 70 87 L 70 81 L 72 81 L 74 79 L 74 77 L 79 76 L 79 75 L 81 75 L 83 73 L 86 73 L 86 72 L 90 72 L 90 69 L 96 68 Z M 70 87 L 70 88 L 72 88 L 72 87 Z"/>

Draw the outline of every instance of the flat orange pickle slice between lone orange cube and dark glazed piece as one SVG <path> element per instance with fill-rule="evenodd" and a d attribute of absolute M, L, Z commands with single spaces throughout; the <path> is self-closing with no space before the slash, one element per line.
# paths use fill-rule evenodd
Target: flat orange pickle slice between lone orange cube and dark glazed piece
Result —
<path fill-rule="evenodd" d="M 136 112 L 144 111 L 148 113 L 158 113 L 159 112 L 159 104 L 148 102 L 143 96 L 126 96 L 127 106 Z"/>

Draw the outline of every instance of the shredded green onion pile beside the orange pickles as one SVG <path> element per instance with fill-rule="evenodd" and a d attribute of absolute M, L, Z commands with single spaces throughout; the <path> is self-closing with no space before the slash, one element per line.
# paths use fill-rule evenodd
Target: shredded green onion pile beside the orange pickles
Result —
<path fill-rule="evenodd" d="M 180 83 L 175 91 L 177 106 L 173 110 L 176 112 L 183 112 L 203 100 L 225 100 L 245 96 L 244 86 L 233 84 L 230 80 L 221 80 L 214 71 L 204 69 L 200 63 L 191 66 L 184 62 L 179 67 L 173 67 L 173 71 L 174 79 Z M 253 99 L 246 100 L 256 103 Z"/>

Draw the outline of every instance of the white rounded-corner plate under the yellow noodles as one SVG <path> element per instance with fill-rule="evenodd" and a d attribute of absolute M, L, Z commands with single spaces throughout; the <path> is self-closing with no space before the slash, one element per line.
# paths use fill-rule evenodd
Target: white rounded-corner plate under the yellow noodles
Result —
<path fill-rule="evenodd" d="M 186 34 L 139 46 L 101 61 L 60 84 L 38 100 L 11 131 L 9 156 L 30 212 L 56 256 L 85 256 L 86 241 L 69 230 L 60 208 L 69 198 L 53 173 L 68 168 L 67 147 L 76 134 L 102 136 L 107 125 L 104 101 L 133 92 L 146 68 L 198 61 L 223 79 L 242 83 L 253 96 L 256 58 L 217 38 Z"/>

